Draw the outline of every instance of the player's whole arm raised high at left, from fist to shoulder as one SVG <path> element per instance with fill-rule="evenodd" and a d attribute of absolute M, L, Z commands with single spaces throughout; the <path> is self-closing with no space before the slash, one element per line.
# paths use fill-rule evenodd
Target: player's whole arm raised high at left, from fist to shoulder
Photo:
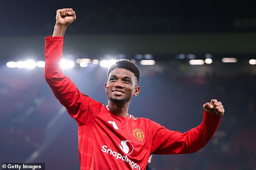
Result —
<path fill-rule="evenodd" d="M 45 80 L 55 97 L 66 107 L 70 116 L 76 119 L 78 124 L 83 124 L 91 119 L 90 115 L 79 113 L 85 112 L 84 110 L 91 102 L 91 98 L 85 97 L 75 84 L 62 74 L 60 67 L 63 36 L 67 26 L 75 19 L 75 12 L 71 8 L 57 11 L 54 34 L 45 37 Z M 81 106 L 82 103 L 83 106 Z"/>

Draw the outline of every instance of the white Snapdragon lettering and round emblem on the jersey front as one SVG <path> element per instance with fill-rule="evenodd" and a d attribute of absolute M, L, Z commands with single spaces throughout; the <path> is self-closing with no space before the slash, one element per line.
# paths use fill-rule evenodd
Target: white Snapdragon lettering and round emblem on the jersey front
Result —
<path fill-rule="evenodd" d="M 130 141 L 129 141 L 130 142 Z M 121 142 L 122 143 L 122 146 L 124 146 L 126 143 L 127 143 L 127 141 L 122 141 Z M 129 146 L 127 146 L 128 148 L 129 148 Z M 109 149 L 106 145 L 103 145 L 102 146 L 102 151 L 104 152 L 104 153 L 106 153 L 106 154 L 110 154 L 110 155 L 112 155 L 112 156 L 114 156 L 114 157 L 116 157 L 116 160 L 118 160 L 118 159 L 121 159 L 122 161 L 124 161 L 124 162 L 126 162 L 126 163 L 128 163 L 131 167 L 132 167 L 132 169 L 137 169 L 137 170 L 140 170 L 140 166 L 137 164 L 137 163 L 135 163 L 135 162 L 133 162 L 132 160 L 130 160 L 128 157 L 127 157 L 127 153 L 128 154 L 131 154 L 132 153 L 132 151 L 133 151 L 133 146 L 132 146 L 132 150 L 129 152 L 127 152 L 127 147 L 125 147 L 126 149 L 126 155 L 124 156 L 124 155 L 122 155 L 122 154 L 120 154 L 120 153 L 118 153 L 118 152 L 116 152 L 116 151 L 113 151 L 113 150 L 111 150 L 111 149 Z M 120 145 L 120 148 L 121 148 L 121 145 Z M 121 148 L 122 149 L 122 148 Z M 122 149 L 123 150 L 123 149 Z"/>

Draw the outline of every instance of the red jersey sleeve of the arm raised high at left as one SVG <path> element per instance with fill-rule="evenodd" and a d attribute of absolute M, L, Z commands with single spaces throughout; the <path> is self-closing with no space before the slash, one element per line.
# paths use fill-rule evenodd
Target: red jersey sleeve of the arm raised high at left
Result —
<path fill-rule="evenodd" d="M 81 125 L 93 118 L 93 113 L 88 113 L 88 106 L 95 104 L 95 101 L 81 93 L 75 84 L 62 74 L 62 47 L 63 37 L 45 37 L 45 80 L 70 116 Z"/>

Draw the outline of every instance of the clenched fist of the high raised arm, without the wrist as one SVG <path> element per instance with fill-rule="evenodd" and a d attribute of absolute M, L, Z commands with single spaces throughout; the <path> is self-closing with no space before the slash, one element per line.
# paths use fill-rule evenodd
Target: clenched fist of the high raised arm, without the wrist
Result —
<path fill-rule="evenodd" d="M 76 16 L 72 8 L 64 8 L 57 10 L 56 26 L 67 27 L 74 20 L 76 20 Z"/>

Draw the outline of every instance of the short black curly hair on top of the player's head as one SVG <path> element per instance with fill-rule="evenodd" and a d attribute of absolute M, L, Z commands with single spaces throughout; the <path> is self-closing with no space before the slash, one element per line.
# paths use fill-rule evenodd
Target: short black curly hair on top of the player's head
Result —
<path fill-rule="evenodd" d="M 132 63 L 129 59 L 118 59 L 115 64 L 112 64 L 107 71 L 107 77 L 109 76 L 109 73 L 114 70 L 115 68 L 124 68 L 126 70 L 129 70 L 134 73 L 137 84 L 140 81 L 140 68 L 135 64 Z"/>

